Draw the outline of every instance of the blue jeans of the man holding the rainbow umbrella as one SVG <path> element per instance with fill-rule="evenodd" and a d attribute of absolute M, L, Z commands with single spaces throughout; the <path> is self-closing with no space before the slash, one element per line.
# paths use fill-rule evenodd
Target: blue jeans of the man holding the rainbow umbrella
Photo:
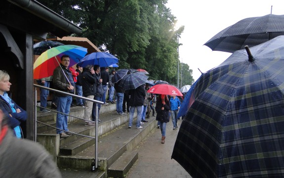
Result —
<path fill-rule="evenodd" d="M 65 113 L 65 114 L 69 114 L 71 103 L 72 103 L 71 96 L 58 97 L 57 111 Z M 65 131 L 69 131 L 67 126 L 68 126 L 68 115 L 57 113 L 56 127 L 59 129 L 65 130 Z M 56 129 L 57 134 L 60 134 L 62 132 L 64 131 Z"/>

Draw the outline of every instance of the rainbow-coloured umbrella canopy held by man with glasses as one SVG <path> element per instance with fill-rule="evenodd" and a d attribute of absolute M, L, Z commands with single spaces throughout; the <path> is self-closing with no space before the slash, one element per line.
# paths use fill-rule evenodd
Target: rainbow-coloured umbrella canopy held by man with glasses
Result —
<path fill-rule="evenodd" d="M 70 56 L 70 66 L 77 64 L 87 53 L 87 48 L 76 45 L 57 46 L 43 52 L 34 63 L 34 79 L 40 79 L 53 75 L 53 71 L 59 66 L 63 55 Z"/>

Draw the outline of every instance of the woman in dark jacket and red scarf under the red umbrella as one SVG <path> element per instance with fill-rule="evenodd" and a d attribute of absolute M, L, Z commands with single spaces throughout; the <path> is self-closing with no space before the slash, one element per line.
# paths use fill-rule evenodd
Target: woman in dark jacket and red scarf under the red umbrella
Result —
<path fill-rule="evenodd" d="M 166 95 L 159 95 L 156 103 L 156 120 L 158 120 L 158 125 L 160 125 L 162 132 L 162 143 L 164 143 L 165 139 L 165 127 L 166 123 L 169 121 L 169 111 L 170 104 Z"/>

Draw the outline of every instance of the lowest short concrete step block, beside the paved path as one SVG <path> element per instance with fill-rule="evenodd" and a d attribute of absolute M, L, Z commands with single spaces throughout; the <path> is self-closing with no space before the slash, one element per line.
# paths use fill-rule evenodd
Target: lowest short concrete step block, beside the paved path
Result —
<path fill-rule="evenodd" d="M 125 151 L 122 156 L 108 168 L 108 177 L 124 178 L 137 159 L 138 151 Z"/>

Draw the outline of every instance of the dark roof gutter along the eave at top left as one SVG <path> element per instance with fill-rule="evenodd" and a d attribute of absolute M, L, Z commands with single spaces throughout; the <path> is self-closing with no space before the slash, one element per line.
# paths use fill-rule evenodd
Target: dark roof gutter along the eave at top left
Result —
<path fill-rule="evenodd" d="M 40 2 L 36 0 L 7 0 L 26 11 L 40 17 L 46 22 L 68 32 L 74 34 L 81 34 L 82 29 L 77 25 L 73 24 L 69 20 L 55 13 L 51 9 L 42 5 Z"/>

